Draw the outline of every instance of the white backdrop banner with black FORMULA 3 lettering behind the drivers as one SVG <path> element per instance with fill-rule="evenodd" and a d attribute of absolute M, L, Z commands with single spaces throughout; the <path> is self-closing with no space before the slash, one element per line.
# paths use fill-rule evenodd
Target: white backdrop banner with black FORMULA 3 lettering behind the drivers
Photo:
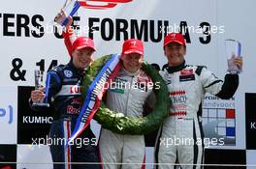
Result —
<path fill-rule="evenodd" d="M 61 0 L 26 0 L 3 1 L 1 4 L 0 144 L 16 144 L 17 86 L 33 86 L 36 69 L 48 70 L 69 61 L 63 40 L 59 33 L 54 34 L 50 24 L 63 3 Z M 214 134 L 229 137 L 232 144 L 212 148 L 244 150 L 244 94 L 256 93 L 253 82 L 256 75 L 255 5 L 256 2 L 250 0 L 120 0 L 113 5 L 106 1 L 90 2 L 88 7 L 93 8 L 80 7 L 74 20 L 75 25 L 80 26 L 79 34 L 93 38 L 97 50 L 95 58 L 120 53 L 124 39 L 138 38 L 144 41 L 144 59 L 160 68 L 167 63 L 162 45 L 164 35 L 180 29 L 187 42 L 187 64 L 207 66 L 220 78 L 227 70 L 225 40 L 241 42 L 244 67 L 234 99 L 218 100 L 208 96 L 204 112 L 215 108 L 210 111 L 216 114 L 217 109 L 222 108 L 219 116 L 228 119 L 225 120 L 228 125 L 219 132 L 214 130 Z M 207 113 L 204 118 L 204 121 L 212 122 Z M 223 122 L 217 123 L 221 126 Z M 213 129 L 208 128 L 208 131 Z M 18 158 L 19 161 L 23 159 Z"/>

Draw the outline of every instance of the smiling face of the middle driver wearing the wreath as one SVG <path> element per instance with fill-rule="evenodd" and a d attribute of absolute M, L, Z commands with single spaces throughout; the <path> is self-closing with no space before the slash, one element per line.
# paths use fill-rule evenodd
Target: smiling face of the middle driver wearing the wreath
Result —
<path fill-rule="evenodd" d="M 140 70 L 142 67 L 143 55 L 139 53 L 123 54 L 121 58 L 124 69 L 131 73 Z"/>

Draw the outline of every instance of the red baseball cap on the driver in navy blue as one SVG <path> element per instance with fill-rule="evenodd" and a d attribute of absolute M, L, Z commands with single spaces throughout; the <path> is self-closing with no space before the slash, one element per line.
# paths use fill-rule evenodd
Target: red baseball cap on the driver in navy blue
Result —
<path fill-rule="evenodd" d="M 88 37 L 79 37 L 73 42 L 72 51 L 80 50 L 81 48 L 89 47 L 95 51 L 94 42 Z"/>

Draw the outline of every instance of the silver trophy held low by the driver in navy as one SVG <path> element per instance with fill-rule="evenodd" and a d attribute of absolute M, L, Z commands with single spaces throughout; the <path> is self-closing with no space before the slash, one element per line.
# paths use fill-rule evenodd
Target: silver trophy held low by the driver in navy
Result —
<path fill-rule="evenodd" d="M 45 84 L 45 74 L 43 70 L 35 70 L 35 90 L 39 90 L 40 87 L 44 87 Z M 33 102 L 32 106 L 44 106 L 49 107 L 48 99 L 45 97 L 42 101 Z"/>

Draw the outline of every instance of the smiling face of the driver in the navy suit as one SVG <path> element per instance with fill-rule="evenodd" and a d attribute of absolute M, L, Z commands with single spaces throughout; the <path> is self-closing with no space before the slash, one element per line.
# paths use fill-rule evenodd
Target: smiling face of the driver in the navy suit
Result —
<path fill-rule="evenodd" d="M 84 47 L 73 51 L 73 64 L 79 70 L 84 70 L 93 61 L 94 49 L 90 47 Z"/>

